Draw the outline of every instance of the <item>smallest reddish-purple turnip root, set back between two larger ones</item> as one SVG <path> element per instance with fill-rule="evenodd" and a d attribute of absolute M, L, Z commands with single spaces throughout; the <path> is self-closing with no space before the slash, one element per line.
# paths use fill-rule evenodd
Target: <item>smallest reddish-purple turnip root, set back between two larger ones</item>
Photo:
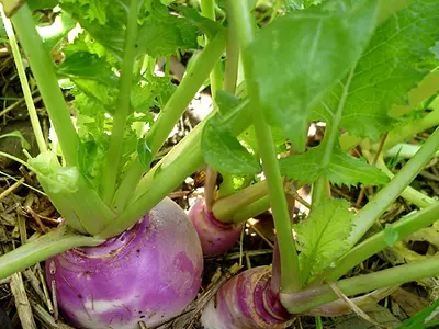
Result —
<path fill-rule="evenodd" d="M 205 257 L 223 254 L 239 239 L 243 224 L 217 220 L 212 211 L 207 209 L 203 198 L 195 202 L 188 215 L 199 234 Z"/>

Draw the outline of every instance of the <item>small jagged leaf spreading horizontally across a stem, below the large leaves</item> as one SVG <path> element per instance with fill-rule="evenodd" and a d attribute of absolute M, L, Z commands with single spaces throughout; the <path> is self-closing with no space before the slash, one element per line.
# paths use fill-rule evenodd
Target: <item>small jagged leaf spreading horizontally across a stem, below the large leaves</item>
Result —
<path fill-rule="evenodd" d="M 313 183 L 320 174 L 334 184 L 382 185 L 389 178 L 375 166 L 364 159 L 354 158 L 344 152 L 339 147 L 334 148 L 330 161 L 322 167 L 325 148 L 323 145 L 308 149 L 303 155 L 289 156 L 280 159 L 281 172 L 299 184 Z"/>

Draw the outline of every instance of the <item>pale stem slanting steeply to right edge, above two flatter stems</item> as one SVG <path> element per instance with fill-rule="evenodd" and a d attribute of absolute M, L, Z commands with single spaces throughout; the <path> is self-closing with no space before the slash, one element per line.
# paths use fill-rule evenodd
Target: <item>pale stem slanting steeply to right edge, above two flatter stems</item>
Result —
<path fill-rule="evenodd" d="M 439 128 L 424 143 L 419 151 L 395 174 L 354 217 L 354 226 L 349 237 L 349 243 L 354 246 L 375 220 L 391 206 L 406 186 L 423 170 L 425 164 L 439 149 Z"/>

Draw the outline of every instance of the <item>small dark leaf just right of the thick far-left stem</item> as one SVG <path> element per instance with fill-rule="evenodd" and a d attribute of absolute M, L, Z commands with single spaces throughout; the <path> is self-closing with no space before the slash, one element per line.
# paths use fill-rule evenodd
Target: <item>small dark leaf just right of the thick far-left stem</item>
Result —
<path fill-rule="evenodd" d="M 66 78 L 95 80 L 113 88 L 117 86 L 117 77 L 111 66 L 98 55 L 86 52 L 69 53 L 56 67 L 56 72 Z"/>

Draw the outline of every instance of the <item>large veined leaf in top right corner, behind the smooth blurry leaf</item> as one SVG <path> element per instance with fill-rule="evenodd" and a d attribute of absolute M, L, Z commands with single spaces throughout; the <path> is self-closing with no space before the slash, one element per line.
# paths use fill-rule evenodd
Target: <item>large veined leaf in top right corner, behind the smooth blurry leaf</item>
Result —
<path fill-rule="evenodd" d="M 439 39 L 439 1 L 415 0 L 394 13 L 374 33 L 358 61 L 344 105 L 340 127 L 378 140 L 392 128 L 393 105 L 407 105 L 407 93 L 438 63 L 432 47 Z M 336 86 L 316 112 L 330 124 L 344 86 Z"/>

